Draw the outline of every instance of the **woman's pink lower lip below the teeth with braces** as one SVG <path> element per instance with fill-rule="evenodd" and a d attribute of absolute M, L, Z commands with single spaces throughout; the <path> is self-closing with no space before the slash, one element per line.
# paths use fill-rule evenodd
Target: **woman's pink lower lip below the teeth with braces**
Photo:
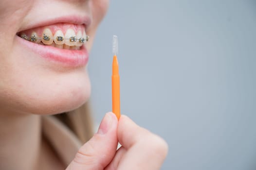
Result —
<path fill-rule="evenodd" d="M 88 63 L 89 54 L 84 45 L 79 50 L 58 49 L 29 42 L 16 35 L 17 41 L 29 51 L 34 51 L 48 61 L 54 61 L 66 67 L 80 67 Z"/>

